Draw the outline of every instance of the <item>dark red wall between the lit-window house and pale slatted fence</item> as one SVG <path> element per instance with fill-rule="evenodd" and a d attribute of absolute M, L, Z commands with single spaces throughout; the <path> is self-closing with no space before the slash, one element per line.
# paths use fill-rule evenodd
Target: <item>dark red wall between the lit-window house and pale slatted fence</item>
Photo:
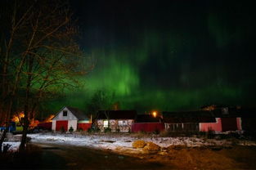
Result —
<path fill-rule="evenodd" d="M 154 132 L 155 130 L 164 131 L 164 123 L 133 123 L 132 132 Z"/>

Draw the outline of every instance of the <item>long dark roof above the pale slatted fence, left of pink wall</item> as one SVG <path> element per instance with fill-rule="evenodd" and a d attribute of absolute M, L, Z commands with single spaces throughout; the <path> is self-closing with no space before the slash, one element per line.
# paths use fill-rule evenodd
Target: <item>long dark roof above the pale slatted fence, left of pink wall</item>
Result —
<path fill-rule="evenodd" d="M 163 112 L 164 123 L 215 123 L 212 111 Z"/>

